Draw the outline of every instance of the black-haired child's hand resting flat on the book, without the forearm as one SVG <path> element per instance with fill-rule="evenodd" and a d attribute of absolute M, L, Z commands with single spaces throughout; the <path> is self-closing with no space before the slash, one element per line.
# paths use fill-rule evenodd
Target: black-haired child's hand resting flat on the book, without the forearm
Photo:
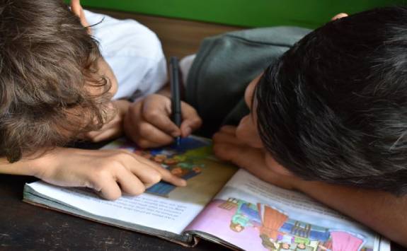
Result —
<path fill-rule="evenodd" d="M 275 172 L 280 165 L 263 148 L 253 148 L 236 138 L 236 127 L 225 126 L 213 136 L 214 153 L 222 160 L 230 161 L 248 172 L 285 189 L 296 189 L 302 181 L 294 175 L 282 175 Z"/>

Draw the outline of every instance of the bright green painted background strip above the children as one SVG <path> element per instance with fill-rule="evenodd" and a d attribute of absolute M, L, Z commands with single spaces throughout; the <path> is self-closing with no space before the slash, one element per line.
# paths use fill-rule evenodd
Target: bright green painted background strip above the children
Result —
<path fill-rule="evenodd" d="M 316 28 L 336 13 L 402 5 L 406 0 L 82 0 L 81 3 L 86 7 L 228 25 Z"/>

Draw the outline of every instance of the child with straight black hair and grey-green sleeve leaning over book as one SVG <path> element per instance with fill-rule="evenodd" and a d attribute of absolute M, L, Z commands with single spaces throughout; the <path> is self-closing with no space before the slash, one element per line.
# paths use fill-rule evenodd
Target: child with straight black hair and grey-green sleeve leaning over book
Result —
<path fill-rule="evenodd" d="M 407 246 L 407 8 L 334 19 L 208 38 L 185 98 L 203 134 L 239 124 L 214 134 L 219 158 Z"/>

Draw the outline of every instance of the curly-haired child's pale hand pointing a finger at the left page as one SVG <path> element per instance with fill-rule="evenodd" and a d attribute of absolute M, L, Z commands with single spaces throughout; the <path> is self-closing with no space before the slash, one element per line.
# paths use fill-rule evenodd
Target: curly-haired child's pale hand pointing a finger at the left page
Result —
<path fill-rule="evenodd" d="M 122 192 L 142 194 L 147 187 L 165 180 L 173 185 L 186 182 L 156 163 L 125 150 L 56 148 L 33 160 L 35 177 L 64 187 L 90 187 L 101 197 L 114 200 Z"/>

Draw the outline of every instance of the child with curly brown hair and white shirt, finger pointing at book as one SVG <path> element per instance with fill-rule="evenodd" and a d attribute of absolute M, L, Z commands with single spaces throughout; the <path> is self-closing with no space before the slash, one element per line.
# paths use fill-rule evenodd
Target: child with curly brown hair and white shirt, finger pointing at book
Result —
<path fill-rule="evenodd" d="M 127 30 L 122 38 L 120 29 Z M 130 102 L 120 98 L 163 86 L 165 59 L 154 33 L 135 21 L 84 11 L 79 0 L 71 9 L 63 1 L 2 0 L 0 45 L 0 173 L 91 187 L 107 199 L 140 194 L 161 179 L 185 185 L 127 151 L 62 147 L 121 134 Z"/>

